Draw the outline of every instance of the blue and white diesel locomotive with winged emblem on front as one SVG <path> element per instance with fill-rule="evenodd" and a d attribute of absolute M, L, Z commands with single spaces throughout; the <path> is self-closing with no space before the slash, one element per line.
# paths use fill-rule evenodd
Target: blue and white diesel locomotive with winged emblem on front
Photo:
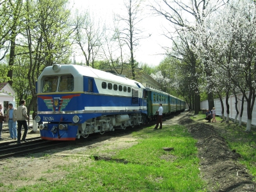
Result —
<path fill-rule="evenodd" d="M 147 118 L 147 90 L 139 82 L 79 65 L 46 67 L 36 83 L 44 140 L 76 140 L 140 125 Z"/>

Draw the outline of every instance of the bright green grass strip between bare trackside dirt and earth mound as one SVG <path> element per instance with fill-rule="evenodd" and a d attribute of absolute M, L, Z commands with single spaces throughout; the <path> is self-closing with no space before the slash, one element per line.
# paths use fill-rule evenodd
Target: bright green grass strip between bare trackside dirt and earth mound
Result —
<path fill-rule="evenodd" d="M 68 175 L 17 191 L 206 191 L 198 170 L 196 140 L 182 125 L 148 127 L 133 133 L 137 145 L 116 151 L 112 161 L 63 165 Z M 173 147 L 167 152 L 163 147 Z M 84 157 L 83 161 L 88 161 Z"/>

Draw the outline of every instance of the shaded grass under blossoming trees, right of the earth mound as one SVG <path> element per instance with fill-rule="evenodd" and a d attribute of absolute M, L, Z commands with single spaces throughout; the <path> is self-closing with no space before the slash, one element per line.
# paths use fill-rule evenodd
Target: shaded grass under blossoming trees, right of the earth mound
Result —
<path fill-rule="evenodd" d="M 192 117 L 195 122 L 205 122 L 205 114 L 198 114 Z M 204 121 L 202 121 L 204 120 Z M 256 182 L 256 129 L 252 127 L 251 132 L 245 132 L 246 125 L 234 124 L 233 122 L 221 123 L 222 118 L 216 117 L 216 130 L 228 142 L 230 150 L 236 150 L 242 156 L 239 163 L 244 164 L 253 175 L 253 181 Z"/>

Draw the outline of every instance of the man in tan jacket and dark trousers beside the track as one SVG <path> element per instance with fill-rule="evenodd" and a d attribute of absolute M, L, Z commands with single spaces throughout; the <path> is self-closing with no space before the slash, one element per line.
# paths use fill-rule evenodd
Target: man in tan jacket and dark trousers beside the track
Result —
<path fill-rule="evenodd" d="M 23 133 L 21 141 L 27 142 L 26 136 L 27 136 L 27 132 L 28 132 L 28 124 L 27 124 L 26 120 L 29 119 L 29 116 L 27 115 L 27 108 L 25 105 L 26 105 L 26 101 L 24 99 L 22 99 L 20 101 L 20 106 L 17 108 L 17 122 L 18 122 L 17 144 L 20 144 L 22 125 L 24 127 L 24 133 Z"/>

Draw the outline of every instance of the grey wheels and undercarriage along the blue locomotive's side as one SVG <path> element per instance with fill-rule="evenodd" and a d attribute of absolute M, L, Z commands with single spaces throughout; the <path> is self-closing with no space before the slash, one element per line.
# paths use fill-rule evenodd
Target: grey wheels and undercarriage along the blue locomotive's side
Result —
<path fill-rule="evenodd" d="M 145 121 L 145 116 L 141 113 L 134 113 L 131 115 L 113 115 L 100 116 L 87 120 L 83 124 L 78 125 L 76 138 L 81 136 L 86 138 L 89 134 L 100 132 L 104 134 L 106 131 L 115 131 L 115 129 L 126 129 L 126 127 L 140 125 Z"/>

